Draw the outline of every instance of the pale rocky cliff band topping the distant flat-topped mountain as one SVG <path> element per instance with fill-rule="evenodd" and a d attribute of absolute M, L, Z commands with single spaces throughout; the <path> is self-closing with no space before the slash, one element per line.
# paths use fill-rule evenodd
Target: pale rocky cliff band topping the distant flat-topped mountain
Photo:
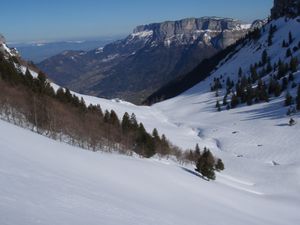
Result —
<path fill-rule="evenodd" d="M 236 41 L 234 36 L 244 34 L 248 28 L 249 25 L 233 19 L 203 17 L 138 26 L 133 35 L 151 34 L 153 45 L 160 42 L 167 46 L 189 45 L 200 39 L 204 44 L 224 48 Z M 213 42 L 216 38 L 218 40 Z"/>

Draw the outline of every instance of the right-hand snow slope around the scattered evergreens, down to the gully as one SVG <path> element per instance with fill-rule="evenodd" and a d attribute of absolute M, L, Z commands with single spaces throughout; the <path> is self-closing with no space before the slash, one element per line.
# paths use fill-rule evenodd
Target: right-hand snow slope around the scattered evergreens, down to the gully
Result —
<path fill-rule="evenodd" d="M 287 40 L 289 31 L 292 31 L 295 40 L 291 46 L 297 45 L 300 23 L 297 19 L 279 19 L 273 25 L 277 25 L 278 31 L 272 46 L 268 47 L 266 43 L 269 24 L 258 42 L 242 48 L 208 79 L 153 108 L 167 115 L 170 122 L 179 124 L 178 129 L 184 125 L 198 130 L 199 144 L 210 147 L 214 154 L 224 159 L 227 165 L 225 173 L 251 181 L 256 190 L 263 193 L 297 199 L 300 209 L 300 115 L 293 116 L 298 124 L 288 126 L 285 93 L 279 98 L 272 98 L 269 103 L 242 105 L 237 109 L 217 112 L 216 101 L 222 100 L 224 93 L 215 97 L 215 93 L 210 92 L 214 78 L 223 75 L 225 80 L 226 77 L 237 80 L 239 67 L 249 72 L 250 65 L 261 59 L 264 49 L 268 50 L 272 63 L 279 58 L 289 62 L 285 59 L 286 48 L 282 48 L 282 41 Z M 299 57 L 300 51 L 294 56 Z M 294 76 L 299 84 L 300 72 Z M 296 88 L 291 89 L 292 93 L 295 91 Z"/>

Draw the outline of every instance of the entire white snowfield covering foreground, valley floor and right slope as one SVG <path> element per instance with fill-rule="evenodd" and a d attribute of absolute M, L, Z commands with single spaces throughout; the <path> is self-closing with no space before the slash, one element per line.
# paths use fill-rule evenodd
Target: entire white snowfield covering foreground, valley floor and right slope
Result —
<path fill-rule="evenodd" d="M 300 41 L 296 19 L 275 23 L 272 62 L 284 60 L 281 44 L 289 31 L 293 45 Z M 148 131 L 157 128 L 183 149 L 210 148 L 225 164 L 216 181 L 199 178 L 189 165 L 84 151 L 0 121 L 0 224 L 299 224 L 299 113 L 288 126 L 285 93 L 216 112 L 209 91 L 214 77 L 236 80 L 240 66 L 247 72 L 258 62 L 263 48 L 257 46 L 266 47 L 267 36 L 268 27 L 208 79 L 151 107 L 77 94 L 119 117 L 135 113 Z M 300 72 L 294 75 L 299 83 Z"/>

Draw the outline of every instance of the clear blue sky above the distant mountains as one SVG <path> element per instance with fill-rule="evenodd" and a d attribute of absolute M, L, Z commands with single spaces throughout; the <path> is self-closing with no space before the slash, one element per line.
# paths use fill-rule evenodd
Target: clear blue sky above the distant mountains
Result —
<path fill-rule="evenodd" d="M 185 17 L 246 22 L 269 15 L 273 0 L 1 0 L 0 33 L 9 42 L 129 34 L 136 25 Z"/>

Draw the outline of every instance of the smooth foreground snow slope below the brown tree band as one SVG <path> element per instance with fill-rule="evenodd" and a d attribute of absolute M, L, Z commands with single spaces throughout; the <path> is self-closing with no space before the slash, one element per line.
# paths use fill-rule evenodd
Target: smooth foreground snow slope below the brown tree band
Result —
<path fill-rule="evenodd" d="M 249 180 L 207 182 L 171 162 L 83 151 L 2 121 L 0 134 L 1 225 L 299 221 L 297 198 L 253 191 Z"/>

